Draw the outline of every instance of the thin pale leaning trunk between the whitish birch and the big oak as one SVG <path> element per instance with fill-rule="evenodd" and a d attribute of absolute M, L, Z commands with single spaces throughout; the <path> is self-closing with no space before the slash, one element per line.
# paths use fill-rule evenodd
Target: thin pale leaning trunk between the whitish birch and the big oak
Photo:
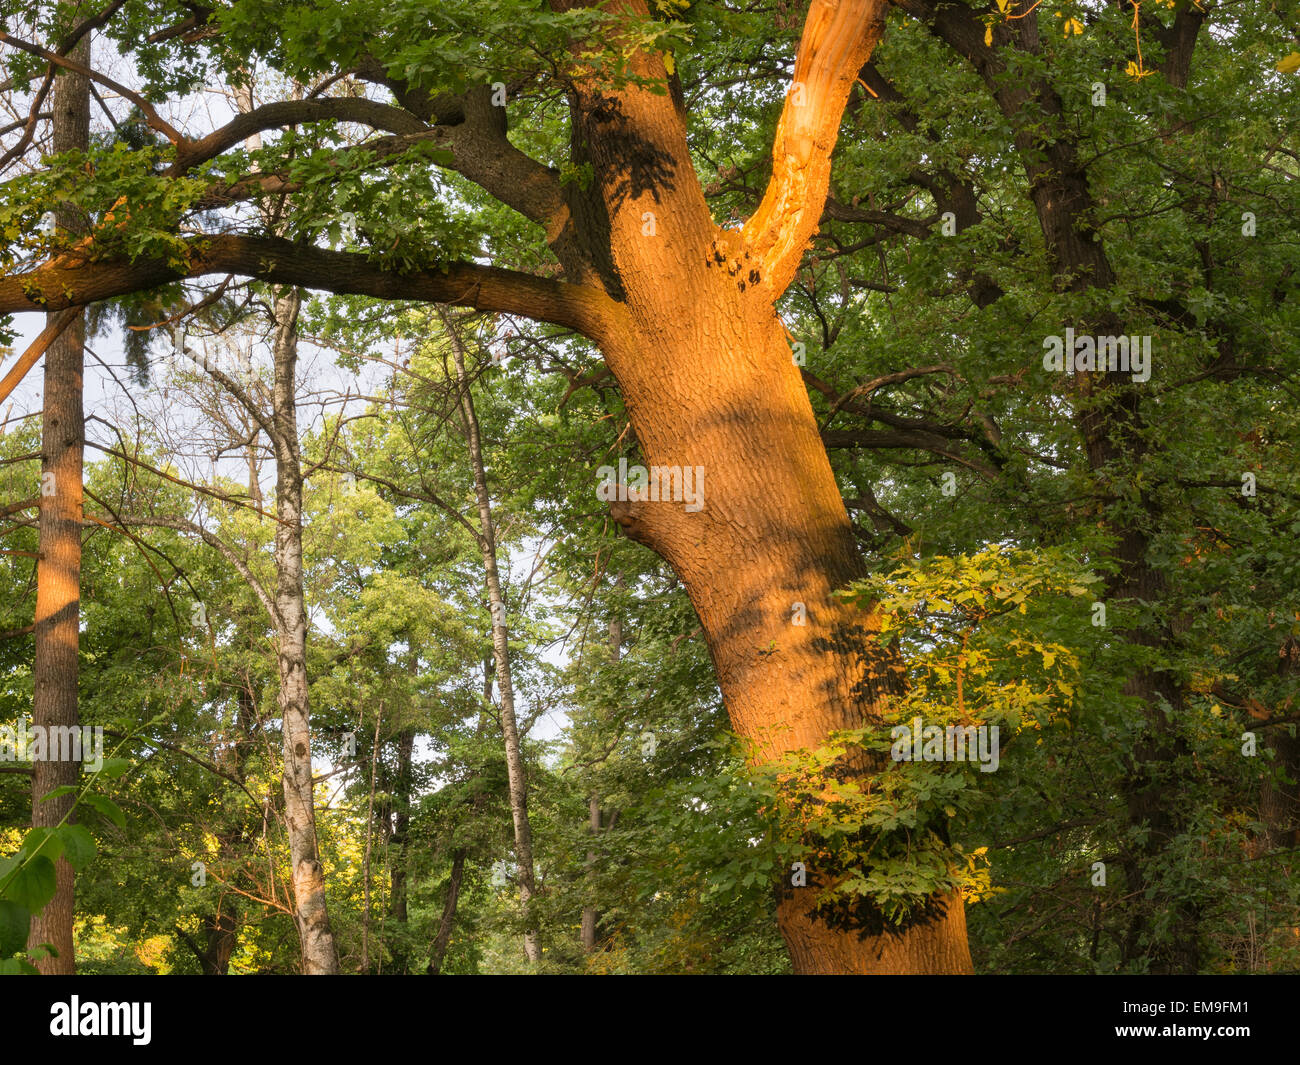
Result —
<path fill-rule="evenodd" d="M 446 313 L 442 315 L 451 352 L 456 365 L 456 388 L 460 393 L 460 416 L 469 445 L 469 459 L 474 467 L 474 495 L 478 499 L 478 547 L 484 557 L 484 572 L 488 581 L 488 606 L 491 612 L 491 646 L 497 659 L 497 687 L 500 690 L 500 731 L 506 740 L 506 774 L 510 782 L 510 811 L 515 822 L 515 861 L 519 866 L 519 897 L 525 913 L 524 953 L 530 962 L 541 960 L 541 947 L 537 936 L 537 921 L 532 914 L 533 896 L 537 893 L 533 879 L 533 830 L 528 822 L 528 776 L 524 772 L 524 757 L 519 744 L 519 723 L 515 718 L 515 688 L 510 670 L 510 632 L 506 628 L 506 599 L 500 592 L 500 575 L 497 570 L 497 531 L 491 520 L 491 501 L 488 495 L 488 475 L 484 469 L 482 442 L 478 437 L 478 417 L 474 414 L 473 397 L 469 394 L 469 380 L 465 375 L 465 355 L 456 333 L 456 324 Z"/>

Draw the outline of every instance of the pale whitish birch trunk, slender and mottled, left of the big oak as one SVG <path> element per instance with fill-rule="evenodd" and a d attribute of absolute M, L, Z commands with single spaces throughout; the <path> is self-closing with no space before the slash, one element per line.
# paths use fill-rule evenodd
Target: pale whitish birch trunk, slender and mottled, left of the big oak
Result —
<path fill-rule="evenodd" d="M 306 975 L 338 973 L 338 951 L 325 905 L 325 874 L 316 837 L 312 732 L 307 685 L 307 610 L 303 602 L 303 471 L 298 450 L 296 291 L 276 298 L 276 610 L 280 615 L 280 713 L 285 735 L 285 824 L 294 906 Z"/>

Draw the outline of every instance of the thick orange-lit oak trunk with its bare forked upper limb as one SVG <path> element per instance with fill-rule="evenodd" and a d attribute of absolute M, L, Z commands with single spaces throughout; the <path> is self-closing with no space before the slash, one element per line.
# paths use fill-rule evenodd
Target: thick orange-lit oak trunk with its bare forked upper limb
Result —
<path fill-rule="evenodd" d="M 641 0 L 611 7 L 647 13 Z M 758 765 L 880 720 L 898 690 L 879 618 L 833 596 L 864 568 L 776 311 L 816 231 L 844 105 L 883 26 L 883 0 L 812 0 L 772 177 L 742 230 L 710 216 L 662 57 L 629 47 L 630 72 L 667 94 L 586 78 L 575 55 L 575 155 L 594 181 L 569 196 L 585 196 L 571 209 L 589 252 L 566 261 L 566 247 L 552 247 L 567 274 L 594 273 L 619 300 L 599 339 L 645 464 L 693 472 L 698 493 L 611 511 L 685 585 L 732 727 Z M 806 624 L 793 623 L 797 609 Z M 818 873 L 809 866 L 810 884 Z M 957 897 L 889 931 L 866 912 L 861 927 L 831 928 L 814 917 L 816 901 L 816 888 L 796 888 L 777 908 L 797 973 L 971 971 Z"/>

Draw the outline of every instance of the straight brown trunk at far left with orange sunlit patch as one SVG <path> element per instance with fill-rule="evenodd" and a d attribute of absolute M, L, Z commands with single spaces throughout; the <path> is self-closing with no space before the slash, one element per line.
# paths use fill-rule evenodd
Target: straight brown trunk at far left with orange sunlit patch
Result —
<path fill-rule="evenodd" d="M 90 62 L 90 39 L 72 53 Z M 53 151 L 84 151 L 90 144 L 90 81 L 61 72 L 53 90 Z M 79 225 L 75 212 L 57 211 L 60 229 Z M 53 316 L 48 316 L 53 317 Z M 35 689 L 31 720 L 35 727 L 75 728 L 78 641 L 81 623 L 82 453 L 86 420 L 82 412 L 82 372 L 86 316 L 81 313 L 46 352 L 44 419 L 42 423 L 42 506 L 36 562 Z M 52 489 L 53 494 L 47 494 Z M 70 733 L 65 733 L 70 735 Z M 57 824 L 72 809 L 70 795 L 42 800 L 55 788 L 75 784 L 81 766 L 62 744 L 48 745 L 48 758 L 36 761 L 31 779 L 32 827 Z M 58 761 L 58 754 L 68 754 Z M 29 947 L 48 943 L 56 957 L 36 961 L 48 975 L 75 969 L 73 954 L 73 867 L 55 863 L 55 897 L 31 921 Z"/>

